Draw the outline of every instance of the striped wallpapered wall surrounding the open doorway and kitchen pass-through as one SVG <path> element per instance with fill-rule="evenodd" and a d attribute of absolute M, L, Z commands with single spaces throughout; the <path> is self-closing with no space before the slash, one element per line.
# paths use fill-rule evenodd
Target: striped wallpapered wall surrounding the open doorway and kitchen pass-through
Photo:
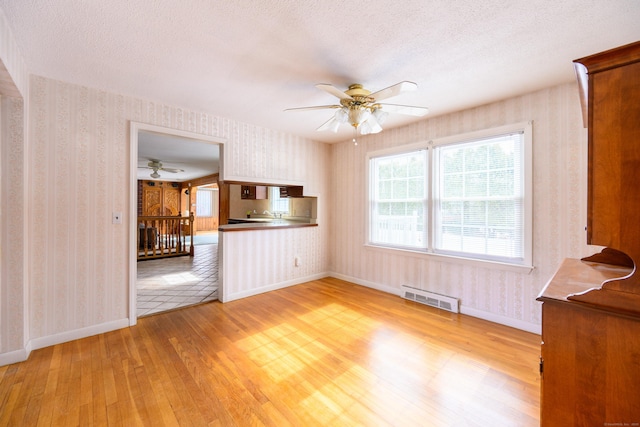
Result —
<path fill-rule="evenodd" d="M 111 212 L 129 212 L 130 120 L 226 139 L 227 179 L 303 181 L 328 194 L 325 144 L 37 76 L 30 92 L 30 339 L 128 316 L 129 221 L 113 225 Z"/>

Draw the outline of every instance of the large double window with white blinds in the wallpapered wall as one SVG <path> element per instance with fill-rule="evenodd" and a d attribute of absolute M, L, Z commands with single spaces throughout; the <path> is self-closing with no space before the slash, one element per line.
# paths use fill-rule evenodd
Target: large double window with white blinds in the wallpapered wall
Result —
<path fill-rule="evenodd" d="M 531 124 L 369 156 L 369 243 L 531 264 Z"/>

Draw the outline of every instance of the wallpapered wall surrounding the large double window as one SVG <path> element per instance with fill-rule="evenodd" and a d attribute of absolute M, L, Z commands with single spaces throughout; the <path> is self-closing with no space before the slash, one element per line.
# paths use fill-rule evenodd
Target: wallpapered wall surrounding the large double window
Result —
<path fill-rule="evenodd" d="M 533 121 L 533 264 L 530 274 L 444 262 L 435 257 L 365 247 L 366 153 L 501 125 Z M 406 284 L 460 298 L 462 311 L 537 331 L 539 291 L 566 257 L 588 247 L 586 225 L 587 132 L 577 85 L 566 84 L 435 117 L 335 145 L 331 207 L 332 271 L 356 283 L 398 292 Z"/>

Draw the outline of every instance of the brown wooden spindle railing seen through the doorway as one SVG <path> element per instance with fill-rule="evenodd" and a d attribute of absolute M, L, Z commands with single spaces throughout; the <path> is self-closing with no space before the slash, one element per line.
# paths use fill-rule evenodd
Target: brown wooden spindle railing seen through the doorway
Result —
<path fill-rule="evenodd" d="M 138 260 L 193 256 L 193 214 L 138 217 Z"/>

